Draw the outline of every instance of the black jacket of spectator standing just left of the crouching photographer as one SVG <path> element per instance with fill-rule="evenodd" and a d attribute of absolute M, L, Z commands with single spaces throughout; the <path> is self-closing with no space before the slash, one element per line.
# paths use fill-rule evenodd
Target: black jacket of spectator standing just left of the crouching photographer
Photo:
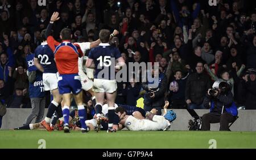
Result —
<path fill-rule="evenodd" d="M 210 87 L 210 77 L 205 73 L 192 73 L 189 75 L 186 89 L 185 100 L 200 105 L 203 103 L 205 94 Z"/>

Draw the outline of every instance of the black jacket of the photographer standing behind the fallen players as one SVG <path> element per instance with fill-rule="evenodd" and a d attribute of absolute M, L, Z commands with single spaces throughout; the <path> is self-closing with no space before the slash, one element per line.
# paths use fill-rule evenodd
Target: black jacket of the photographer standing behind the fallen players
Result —
<path fill-rule="evenodd" d="M 158 91 L 155 92 L 155 98 L 150 98 L 148 95 L 148 83 L 142 83 L 142 88 L 146 90 L 146 93 L 144 95 L 144 104 L 145 105 L 151 105 L 151 106 L 160 106 L 162 107 L 164 104 L 164 93 L 166 93 L 167 90 L 167 77 L 164 73 L 159 74 L 159 85 L 158 85 Z"/>

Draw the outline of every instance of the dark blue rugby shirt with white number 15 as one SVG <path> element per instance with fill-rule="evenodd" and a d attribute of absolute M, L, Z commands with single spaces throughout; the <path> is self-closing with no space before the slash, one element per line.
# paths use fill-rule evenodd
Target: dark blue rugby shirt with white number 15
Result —
<path fill-rule="evenodd" d="M 95 64 L 94 79 L 115 79 L 115 59 L 121 57 L 117 47 L 109 44 L 100 44 L 90 50 L 89 56 Z M 104 74 L 101 74 L 104 71 Z M 106 71 L 106 72 L 105 72 Z"/>

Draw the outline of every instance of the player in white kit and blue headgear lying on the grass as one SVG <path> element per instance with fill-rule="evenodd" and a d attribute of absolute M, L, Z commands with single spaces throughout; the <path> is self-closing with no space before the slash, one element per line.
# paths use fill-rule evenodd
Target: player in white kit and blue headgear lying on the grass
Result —
<path fill-rule="evenodd" d="M 146 114 L 146 119 L 138 119 L 133 115 L 126 115 L 123 107 L 117 107 L 115 113 L 119 116 L 119 124 L 126 127 L 130 131 L 166 131 L 171 127 L 172 111 L 167 111 L 169 102 L 164 105 L 164 116 L 156 115 L 157 110 L 152 109 Z"/>

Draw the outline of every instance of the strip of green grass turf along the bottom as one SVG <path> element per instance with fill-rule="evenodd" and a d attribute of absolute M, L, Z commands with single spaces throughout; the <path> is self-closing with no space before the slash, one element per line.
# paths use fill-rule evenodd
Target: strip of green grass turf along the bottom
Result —
<path fill-rule="evenodd" d="M 117 133 L 81 133 L 71 131 L 0 131 L 0 148 L 38 148 L 40 139 L 46 148 L 209 148 L 209 140 L 217 148 L 256 148 L 256 132 L 201 131 L 118 131 Z"/>

